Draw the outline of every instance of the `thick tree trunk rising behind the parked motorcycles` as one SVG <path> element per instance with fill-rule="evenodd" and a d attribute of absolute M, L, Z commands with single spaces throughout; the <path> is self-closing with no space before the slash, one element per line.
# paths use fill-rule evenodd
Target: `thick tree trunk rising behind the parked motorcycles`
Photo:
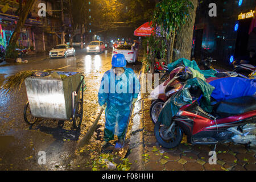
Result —
<path fill-rule="evenodd" d="M 192 39 L 193 39 L 193 26 L 196 19 L 197 0 L 191 0 L 194 9 L 189 10 L 191 20 L 183 27 L 179 28 L 176 35 L 176 44 L 174 53 L 174 60 L 178 60 L 182 57 L 185 59 L 191 59 Z"/>

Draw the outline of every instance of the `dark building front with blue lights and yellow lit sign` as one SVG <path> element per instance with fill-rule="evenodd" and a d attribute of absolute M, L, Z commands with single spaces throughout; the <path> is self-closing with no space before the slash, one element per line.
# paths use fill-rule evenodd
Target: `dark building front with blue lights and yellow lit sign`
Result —
<path fill-rule="evenodd" d="M 215 3 L 217 16 L 209 11 Z M 256 50 L 255 0 L 199 1 L 193 34 L 192 57 L 213 57 L 230 64 Z"/>

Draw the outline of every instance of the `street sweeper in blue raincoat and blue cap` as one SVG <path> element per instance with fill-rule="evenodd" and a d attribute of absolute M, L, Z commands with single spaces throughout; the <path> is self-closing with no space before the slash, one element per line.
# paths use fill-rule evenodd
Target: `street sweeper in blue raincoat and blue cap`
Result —
<path fill-rule="evenodd" d="M 104 142 L 106 146 L 117 135 L 118 142 L 123 140 L 131 105 L 138 99 L 140 84 L 133 69 L 126 68 L 122 54 L 112 57 L 112 69 L 104 73 L 98 92 L 98 103 L 105 109 Z"/>

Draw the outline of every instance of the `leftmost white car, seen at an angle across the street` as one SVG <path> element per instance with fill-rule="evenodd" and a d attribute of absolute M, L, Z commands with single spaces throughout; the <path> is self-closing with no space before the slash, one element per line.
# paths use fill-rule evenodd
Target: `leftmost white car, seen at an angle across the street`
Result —
<path fill-rule="evenodd" d="M 65 57 L 68 56 L 75 56 L 76 50 L 73 47 L 68 46 L 67 44 L 60 44 L 52 48 L 51 51 L 49 51 L 49 57 Z"/>

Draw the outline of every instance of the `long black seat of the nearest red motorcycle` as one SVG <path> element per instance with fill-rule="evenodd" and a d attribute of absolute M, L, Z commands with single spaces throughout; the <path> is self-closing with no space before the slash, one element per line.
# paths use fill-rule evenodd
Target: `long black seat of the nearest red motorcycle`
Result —
<path fill-rule="evenodd" d="M 225 118 L 256 110 L 256 95 L 232 98 L 218 102 L 213 110 L 219 117 Z"/>

